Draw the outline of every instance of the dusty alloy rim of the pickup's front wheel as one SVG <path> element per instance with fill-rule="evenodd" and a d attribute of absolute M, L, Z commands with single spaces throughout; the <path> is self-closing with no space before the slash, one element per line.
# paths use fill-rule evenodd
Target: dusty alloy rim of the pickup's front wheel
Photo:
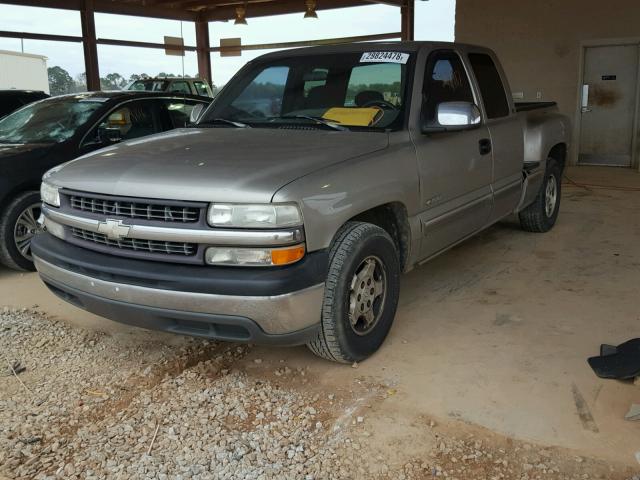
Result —
<path fill-rule="evenodd" d="M 349 321 L 357 335 L 366 335 L 378 323 L 386 297 L 386 277 L 378 257 L 365 258 L 351 280 Z"/>

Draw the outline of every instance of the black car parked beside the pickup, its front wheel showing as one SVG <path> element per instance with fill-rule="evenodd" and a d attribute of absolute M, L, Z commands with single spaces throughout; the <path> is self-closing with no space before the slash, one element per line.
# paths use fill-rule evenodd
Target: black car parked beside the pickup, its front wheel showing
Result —
<path fill-rule="evenodd" d="M 185 127 L 211 98 L 152 92 L 51 97 L 0 120 L 0 264 L 33 270 L 40 181 L 52 167 L 123 140 Z M 196 113 L 194 112 L 194 114 Z"/>

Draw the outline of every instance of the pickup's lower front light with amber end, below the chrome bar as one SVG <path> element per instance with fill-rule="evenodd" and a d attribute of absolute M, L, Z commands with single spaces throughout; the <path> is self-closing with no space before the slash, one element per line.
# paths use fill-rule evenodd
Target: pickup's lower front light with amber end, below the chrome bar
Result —
<path fill-rule="evenodd" d="M 209 265 L 271 267 L 290 265 L 304 257 L 304 245 L 284 248 L 209 247 L 205 260 Z"/>

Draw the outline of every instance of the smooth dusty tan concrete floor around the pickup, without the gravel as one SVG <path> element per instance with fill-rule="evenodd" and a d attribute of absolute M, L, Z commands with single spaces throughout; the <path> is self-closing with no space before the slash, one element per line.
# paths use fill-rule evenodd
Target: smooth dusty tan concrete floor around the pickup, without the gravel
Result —
<path fill-rule="evenodd" d="M 386 344 L 358 370 L 304 348 L 253 354 L 307 365 L 327 389 L 356 376 L 392 385 L 397 395 L 377 412 L 382 444 L 415 447 L 415 419 L 428 416 L 637 466 L 640 423 L 624 414 L 640 388 L 598 379 L 586 359 L 640 337 L 640 174 L 567 176 L 552 232 L 503 222 L 406 275 Z M 84 327 L 150 335 L 63 304 L 34 274 L 0 270 L 0 305 L 35 304 Z"/>

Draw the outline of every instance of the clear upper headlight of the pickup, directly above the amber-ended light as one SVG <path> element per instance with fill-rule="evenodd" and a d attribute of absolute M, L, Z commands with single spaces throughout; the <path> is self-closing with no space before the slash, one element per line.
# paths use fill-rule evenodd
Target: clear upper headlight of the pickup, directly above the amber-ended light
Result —
<path fill-rule="evenodd" d="M 295 205 L 214 203 L 207 220 L 212 227 L 279 228 L 302 225 L 302 214 Z"/>

